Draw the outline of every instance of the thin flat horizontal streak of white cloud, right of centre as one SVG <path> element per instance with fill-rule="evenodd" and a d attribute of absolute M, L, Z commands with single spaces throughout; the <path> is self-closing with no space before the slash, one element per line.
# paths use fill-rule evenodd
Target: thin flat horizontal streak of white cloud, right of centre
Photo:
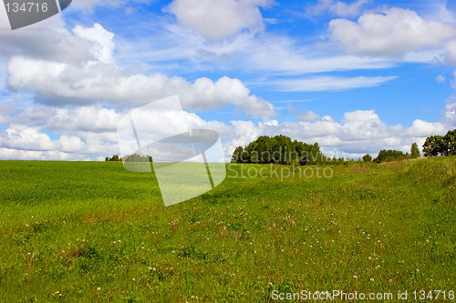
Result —
<path fill-rule="evenodd" d="M 316 76 L 305 79 L 272 80 L 270 83 L 276 89 L 285 92 L 316 92 L 379 86 L 396 78 L 397 76 L 357 76 L 351 78 Z"/>

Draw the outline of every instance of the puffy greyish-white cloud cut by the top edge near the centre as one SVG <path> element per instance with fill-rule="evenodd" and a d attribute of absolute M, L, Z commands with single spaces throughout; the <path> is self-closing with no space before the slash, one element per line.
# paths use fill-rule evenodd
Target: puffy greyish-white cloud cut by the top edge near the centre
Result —
<path fill-rule="evenodd" d="M 173 0 L 167 10 L 179 23 L 209 40 L 218 40 L 248 29 L 252 33 L 264 29 L 259 7 L 271 0 Z"/>

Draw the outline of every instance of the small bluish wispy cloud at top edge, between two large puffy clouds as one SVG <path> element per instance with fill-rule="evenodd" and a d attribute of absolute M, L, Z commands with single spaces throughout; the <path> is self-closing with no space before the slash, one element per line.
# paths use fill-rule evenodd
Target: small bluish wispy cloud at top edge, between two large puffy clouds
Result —
<path fill-rule="evenodd" d="M 356 16 L 359 15 L 361 7 L 370 2 L 370 0 L 357 0 L 347 4 L 345 2 L 335 0 L 318 0 L 316 5 L 312 5 L 307 8 L 307 14 L 320 15 L 324 12 L 328 12 L 331 15 L 342 17 Z"/>

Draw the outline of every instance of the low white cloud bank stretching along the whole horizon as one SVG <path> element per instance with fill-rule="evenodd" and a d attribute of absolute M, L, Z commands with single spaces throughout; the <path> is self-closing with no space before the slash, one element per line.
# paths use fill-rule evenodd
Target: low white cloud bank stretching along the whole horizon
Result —
<path fill-rule="evenodd" d="M 236 146 L 245 146 L 258 136 L 279 134 L 307 143 L 318 142 L 322 150 L 337 157 L 362 157 L 367 153 L 375 155 L 385 148 L 408 152 L 415 141 L 422 145 L 427 136 L 443 135 L 456 126 L 455 104 L 448 102 L 442 122 L 417 119 L 408 127 L 386 125 L 374 110 L 347 112 L 341 121 L 302 111 L 306 118 L 297 122 L 233 120 L 230 123 L 205 121 L 185 111 L 161 111 L 137 116 L 136 122 L 147 125 L 155 132 L 153 135 L 159 137 L 169 136 L 169 129 L 163 129 L 159 123 L 163 119 L 176 126 L 187 123 L 191 128 L 216 130 L 221 135 L 226 160 Z M 0 158 L 81 160 L 119 154 L 116 126 L 124 112 L 97 106 L 67 109 L 36 106 L 30 110 L 38 113 L 36 118 L 41 122 L 36 124 L 40 126 L 36 126 L 29 115 L 14 116 L 15 125 L 0 130 Z M 82 118 L 84 115 L 88 115 L 86 120 Z M 55 117 L 45 120 L 45 116 Z M 76 121 L 71 121 L 71 117 Z M 62 127 L 66 123 L 68 126 Z M 97 124 L 98 130 L 90 129 L 90 125 Z M 54 135 L 51 137 L 44 129 Z"/>

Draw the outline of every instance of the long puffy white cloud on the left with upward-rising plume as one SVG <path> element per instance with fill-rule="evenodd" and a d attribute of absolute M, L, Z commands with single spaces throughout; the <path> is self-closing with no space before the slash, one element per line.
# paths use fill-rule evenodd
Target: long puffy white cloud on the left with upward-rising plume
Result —
<path fill-rule="evenodd" d="M 236 78 L 217 81 L 201 77 L 193 83 L 180 76 L 161 74 L 130 75 L 115 64 L 113 35 L 101 25 L 73 30 L 86 42 L 91 59 L 78 63 L 13 56 L 8 64 L 8 84 L 16 90 L 32 90 L 36 101 L 46 105 L 142 106 L 163 97 L 180 95 L 182 105 L 191 110 L 233 105 L 248 116 L 273 116 L 275 108 Z"/>

